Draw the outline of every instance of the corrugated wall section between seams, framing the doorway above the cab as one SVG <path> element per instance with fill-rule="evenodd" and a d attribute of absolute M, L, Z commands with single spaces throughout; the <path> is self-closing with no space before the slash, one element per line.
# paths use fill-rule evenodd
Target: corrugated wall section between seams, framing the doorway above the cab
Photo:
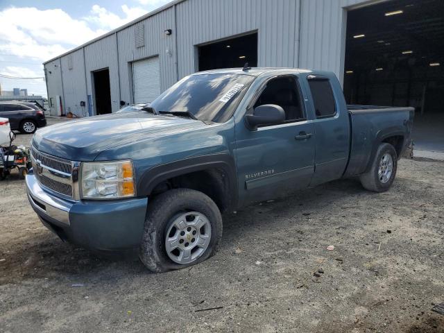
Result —
<path fill-rule="evenodd" d="M 258 32 L 258 66 L 294 67 L 300 0 L 189 0 L 177 5 L 179 76 L 196 71 L 196 45 Z"/>

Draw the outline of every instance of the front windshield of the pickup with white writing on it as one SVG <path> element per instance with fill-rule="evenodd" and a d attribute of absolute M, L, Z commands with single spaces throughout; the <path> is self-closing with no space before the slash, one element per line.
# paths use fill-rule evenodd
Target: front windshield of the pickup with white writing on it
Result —
<path fill-rule="evenodd" d="M 232 116 L 255 79 L 244 74 L 198 74 L 182 78 L 151 107 L 159 113 L 191 113 L 201 121 L 223 123 Z"/>

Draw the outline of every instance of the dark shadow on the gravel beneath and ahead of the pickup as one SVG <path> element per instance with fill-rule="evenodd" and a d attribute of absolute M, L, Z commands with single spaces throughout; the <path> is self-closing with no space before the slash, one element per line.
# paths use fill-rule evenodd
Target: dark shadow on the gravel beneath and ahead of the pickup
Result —
<path fill-rule="evenodd" d="M 305 223 L 309 228 L 307 214 L 316 212 L 320 207 L 329 210 L 341 197 L 349 196 L 352 200 L 356 196 L 373 195 L 377 194 L 365 191 L 356 180 L 339 180 L 298 192 L 288 198 L 250 205 L 237 214 L 225 214 L 220 255 L 230 251 L 242 239 L 252 238 L 258 230 L 271 234 L 275 232 L 276 225 L 289 228 L 289 223 Z M 149 274 L 139 262 L 135 250 L 96 253 L 63 243 L 46 229 L 22 238 L 20 244 L 11 246 L 8 253 L 0 252 L 2 258 L 6 260 L 0 263 L 0 285 L 28 278 L 95 280 L 100 276 L 101 280 L 112 280 L 122 275 Z"/>

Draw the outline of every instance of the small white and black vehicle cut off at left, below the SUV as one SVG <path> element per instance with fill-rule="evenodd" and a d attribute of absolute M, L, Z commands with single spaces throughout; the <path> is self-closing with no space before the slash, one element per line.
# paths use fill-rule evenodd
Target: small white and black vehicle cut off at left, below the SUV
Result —
<path fill-rule="evenodd" d="M 29 149 L 13 146 L 14 139 L 15 133 L 11 132 L 8 119 L 0 118 L 0 180 L 4 180 L 15 168 L 20 178 L 24 179 L 28 169 L 31 169 Z"/>

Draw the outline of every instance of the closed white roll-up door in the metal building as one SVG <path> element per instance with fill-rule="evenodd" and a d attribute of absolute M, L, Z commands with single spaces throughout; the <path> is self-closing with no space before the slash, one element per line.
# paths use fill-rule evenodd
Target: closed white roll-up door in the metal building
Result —
<path fill-rule="evenodd" d="M 160 95 L 159 58 L 133 62 L 134 103 L 151 103 Z"/>

